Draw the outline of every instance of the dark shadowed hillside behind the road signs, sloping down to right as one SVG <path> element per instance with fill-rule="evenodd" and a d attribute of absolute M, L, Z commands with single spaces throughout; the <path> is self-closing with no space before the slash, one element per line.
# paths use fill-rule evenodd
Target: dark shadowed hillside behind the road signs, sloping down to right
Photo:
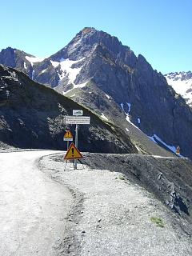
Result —
<path fill-rule="evenodd" d="M 73 109 L 90 116 L 90 126 L 81 125 L 78 146 L 91 152 L 136 153 L 122 130 L 102 122 L 90 110 L 49 87 L 33 82 L 18 70 L 0 65 L 0 141 L 20 148 L 66 149 L 62 141 L 65 115 Z M 74 134 L 74 126 L 70 126 Z"/>

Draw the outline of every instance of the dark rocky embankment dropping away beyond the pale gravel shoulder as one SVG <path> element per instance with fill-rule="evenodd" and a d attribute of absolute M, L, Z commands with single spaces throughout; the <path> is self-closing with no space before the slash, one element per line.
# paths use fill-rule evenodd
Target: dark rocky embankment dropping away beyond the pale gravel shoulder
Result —
<path fill-rule="evenodd" d="M 122 172 L 129 180 L 153 193 L 177 216 L 192 223 L 192 162 L 189 159 L 138 154 L 109 154 L 107 157 L 103 154 L 86 154 L 82 161 L 95 168 Z"/>

